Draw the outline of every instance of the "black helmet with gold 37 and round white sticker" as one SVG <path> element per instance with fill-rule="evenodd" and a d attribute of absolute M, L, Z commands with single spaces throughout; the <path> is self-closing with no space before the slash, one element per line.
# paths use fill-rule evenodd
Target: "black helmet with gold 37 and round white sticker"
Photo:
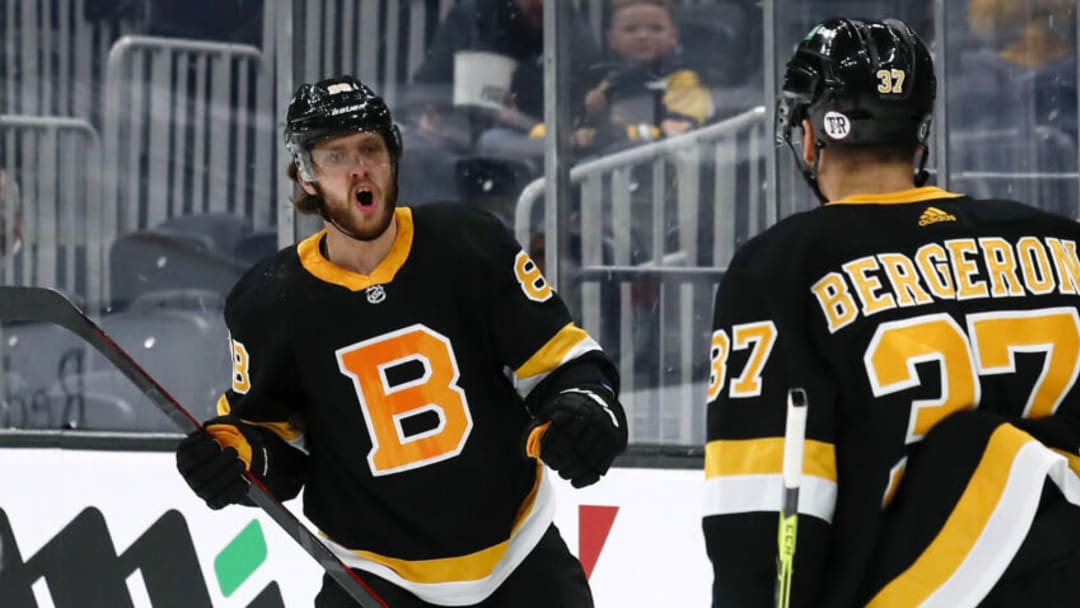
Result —
<path fill-rule="evenodd" d="M 777 100 L 777 143 L 795 153 L 819 199 L 818 159 L 804 162 L 792 134 L 809 119 L 827 147 L 921 147 L 915 185 L 927 179 L 928 137 L 937 81 L 926 44 L 897 19 L 831 18 L 802 39 Z"/>

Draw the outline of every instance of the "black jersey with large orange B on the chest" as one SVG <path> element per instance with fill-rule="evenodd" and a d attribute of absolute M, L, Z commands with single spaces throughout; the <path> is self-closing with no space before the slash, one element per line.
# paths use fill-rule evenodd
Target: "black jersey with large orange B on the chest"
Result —
<path fill-rule="evenodd" d="M 395 213 L 369 275 L 328 261 L 323 231 L 237 284 L 219 411 L 303 435 L 305 513 L 349 566 L 472 604 L 552 521 L 543 467 L 523 455 L 525 398 L 599 347 L 494 217 Z"/>

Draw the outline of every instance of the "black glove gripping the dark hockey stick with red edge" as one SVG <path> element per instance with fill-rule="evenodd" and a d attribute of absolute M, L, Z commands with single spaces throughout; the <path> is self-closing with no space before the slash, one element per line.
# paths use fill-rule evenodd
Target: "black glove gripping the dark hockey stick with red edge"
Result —
<path fill-rule="evenodd" d="M 251 482 L 243 472 L 252 464 L 255 470 L 265 465 L 262 450 L 253 449 L 241 424 L 228 416 L 215 418 L 185 437 L 176 448 L 176 469 L 211 509 L 247 503 Z"/>

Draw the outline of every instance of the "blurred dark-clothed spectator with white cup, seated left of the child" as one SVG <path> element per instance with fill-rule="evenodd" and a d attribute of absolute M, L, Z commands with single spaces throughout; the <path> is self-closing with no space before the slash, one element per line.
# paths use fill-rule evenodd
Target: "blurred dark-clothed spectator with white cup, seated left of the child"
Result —
<path fill-rule="evenodd" d="M 599 57 L 585 24 L 584 19 L 571 22 L 573 99 L 582 99 L 594 82 L 590 69 Z M 413 102 L 423 107 L 421 131 L 447 135 L 454 130 L 447 114 L 451 108 L 455 57 L 462 51 L 486 51 L 514 63 L 509 94 L 501 99 L 500 111 L 483 114 L 478 123 L 471 125 L 470 136 L 491 126 L 525 134 L 542 120 L 543 0 L 463 0 L 450 9 L 414 75 L 420 98 Z"/>

